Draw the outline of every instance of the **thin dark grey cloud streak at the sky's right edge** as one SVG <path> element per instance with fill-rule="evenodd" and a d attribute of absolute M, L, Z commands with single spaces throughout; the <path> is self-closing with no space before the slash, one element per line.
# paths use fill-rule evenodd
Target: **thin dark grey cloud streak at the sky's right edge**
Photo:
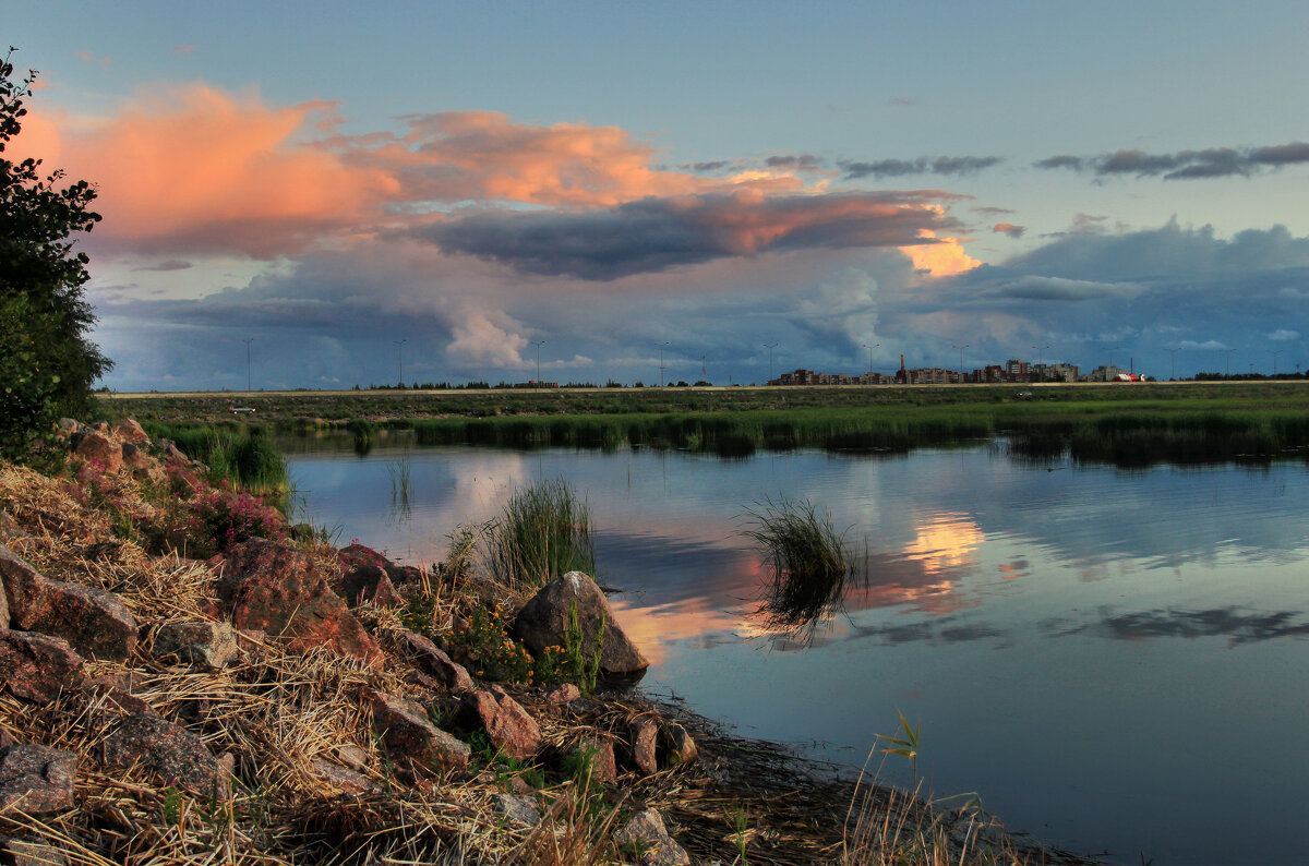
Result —
<path fill-rule="evenodd" d="M 1309 162 L 1309 144 L 1292 141 L 1261 148 L 1210 148 L 1177 153 L 1145 153 L 1123 149 L 1098 157 L 1054 156 L 1033 165 L 1038 169 L 1072 169 L 1096 177 L 1162 177 L 1165 181 L 1250 177 L 1264 169 Z"/>

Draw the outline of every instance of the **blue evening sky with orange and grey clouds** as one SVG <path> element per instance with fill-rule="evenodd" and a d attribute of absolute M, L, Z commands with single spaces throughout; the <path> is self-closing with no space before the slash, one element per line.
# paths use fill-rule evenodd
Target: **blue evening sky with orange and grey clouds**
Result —
<path fill-rule="evenodd" d="M 1305 3 L 4 17 L 113 390 L 1309 365 Z"/>

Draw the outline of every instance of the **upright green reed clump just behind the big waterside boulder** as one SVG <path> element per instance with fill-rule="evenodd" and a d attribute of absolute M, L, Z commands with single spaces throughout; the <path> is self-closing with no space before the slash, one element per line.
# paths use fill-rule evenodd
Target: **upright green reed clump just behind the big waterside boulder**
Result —
<path fill-rule="evenodd" d="M 596 576 L 590 508 L 562 479 L 516 491 L 482 538 L 491 577 L 513 590 L 539 589 L 568 572 Z"/>

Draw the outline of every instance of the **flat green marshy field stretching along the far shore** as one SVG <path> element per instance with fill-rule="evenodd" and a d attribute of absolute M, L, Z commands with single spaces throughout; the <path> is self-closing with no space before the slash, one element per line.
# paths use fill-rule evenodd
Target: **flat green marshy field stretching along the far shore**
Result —
<path fill-rule="evenodd" d="M 254 409 L 233 413 L 229 407 Z M 821 447 L 903 451 L 1005 437 L 1016 454 L 1148 464 L 1309 454 L 1309 383 L 292 391 L 113 395 L 154 436 L 196 428 L 382 430 L 424 445 L 651 446 L 745 457 Z"/>

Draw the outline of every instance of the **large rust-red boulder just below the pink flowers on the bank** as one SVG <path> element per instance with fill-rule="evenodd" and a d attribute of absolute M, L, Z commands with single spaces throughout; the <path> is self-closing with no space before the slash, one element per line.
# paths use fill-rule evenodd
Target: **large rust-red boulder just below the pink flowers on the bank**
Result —
<path fill-rule="evenodd" d="M 304 551 L 266 539 L 233 546 L 223 557 L 219 595 L 238 629 L 288 638 L 301 651 L 326 646 L 373 666 L 384 661 L 377 642 Z"/>

